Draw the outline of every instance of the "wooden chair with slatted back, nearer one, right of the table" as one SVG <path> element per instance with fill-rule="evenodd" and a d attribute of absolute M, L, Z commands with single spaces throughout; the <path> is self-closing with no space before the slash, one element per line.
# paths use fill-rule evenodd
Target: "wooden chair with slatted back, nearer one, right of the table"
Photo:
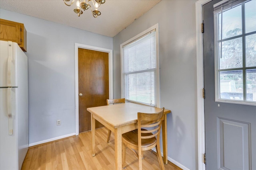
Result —
<path fill-rule="evenodd" d="M 138 112 L 138 129 L 122 135 L 122 166 L 125 167 L 126 147 L 132 150 L 139 159 L 139 170 L 142 170 L 142 151 L 156 147 L 158 162 L 164 170 L 164 162 L 160 151 L 160 130 L 164 108 L 158 113 Z M 142 128 L 150 128 L 149 130 Z M 138 150 L 138 153 L 135 151 Z"/>

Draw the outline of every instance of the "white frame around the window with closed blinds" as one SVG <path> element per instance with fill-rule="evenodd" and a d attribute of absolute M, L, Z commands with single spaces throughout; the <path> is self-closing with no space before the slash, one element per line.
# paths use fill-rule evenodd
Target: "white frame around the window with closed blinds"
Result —
<path fill-rule="evenodd" d="M 135 41 L 136 39 L 140 39 L 142 37 L 144 37 L 144 35 L 146 35 L 147 33 L 149 33 L 150 31 L 155 29 L 155 33 L 156 33 L 156 106 L 154 107 L 160 107 L 160 75 L 159 75 L 159 41 L 158 41 L 158 23 L 153 25 L 152 27 L 146 29 L 145 31 L 139 33 L 138 35 L 132 37 L 131 39 L 125 41 L 124 43 L 122 43 L 120 45 L 120 57 L 121 57 L 121 96 L 122 98 L 125 98 L 124 96 L 124 87 L 123 87 L 123 83 L 124 83 L 124 76 L 123 76 L 123 49 L 122 47 L 124 47 L 125 45 L 128 45 L 129 43 L 132 43 L 133 41 Z M 132 100 L 126 99 L 129 102 L 134 102 Z M 139 103 L 139 104 L 144 104 L 144 103 L 140 103 L 140 102 L 135 102 L 135 103 Z M 151 106 L 151 105 L 148 105 Z M 152 106 L 153 107 L 153 106 Z"/>

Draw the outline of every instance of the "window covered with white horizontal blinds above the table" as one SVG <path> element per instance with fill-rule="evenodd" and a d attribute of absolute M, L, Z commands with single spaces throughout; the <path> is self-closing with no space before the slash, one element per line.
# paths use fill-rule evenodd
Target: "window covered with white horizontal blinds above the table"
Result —
<path fill-rule="evenodd" d="M 156 29 L 121 45 L 122 98 L 150 106 L 158 105 L 158 57 Z"/>

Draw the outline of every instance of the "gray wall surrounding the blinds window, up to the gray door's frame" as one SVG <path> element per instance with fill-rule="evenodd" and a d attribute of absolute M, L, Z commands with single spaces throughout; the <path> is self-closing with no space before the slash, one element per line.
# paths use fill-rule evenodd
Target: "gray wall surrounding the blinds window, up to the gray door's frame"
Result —
<path fill-rule="evenodd" d="M 168 114 L 168 156 L 197 165 L 196 0 L 162 0 L 113 38 L 114 98 L 121 96 L 120 44 L 159 23 L 161 107 Z"/>

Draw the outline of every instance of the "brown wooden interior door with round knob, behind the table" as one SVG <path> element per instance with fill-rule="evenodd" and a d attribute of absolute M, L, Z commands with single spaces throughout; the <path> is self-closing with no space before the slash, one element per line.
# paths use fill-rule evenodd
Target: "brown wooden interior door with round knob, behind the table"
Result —
<path fill-rule="evenodd" d="M 108 53 L 78 48 L 79 133 L 91 130 L 87 108 L 107 105 L 108 62 Z M 102 126 L 96 121 L 96 128 Z"/>

